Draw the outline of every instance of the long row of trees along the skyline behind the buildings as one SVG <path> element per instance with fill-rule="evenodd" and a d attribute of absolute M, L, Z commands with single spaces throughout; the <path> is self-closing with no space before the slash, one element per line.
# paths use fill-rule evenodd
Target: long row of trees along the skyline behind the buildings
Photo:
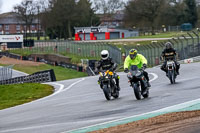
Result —
<path fill-rule="evenodd" d="M 71 38 L 74 27 L 98 26 L 98 14 L 115 15 L 123 10 L 124 28 L 155 28 L 191 23 L 199 26 L 200 6 L 195 0 L 23 0 L 14 7 L 19 18 L 29 27 L 39 19 L 45 33 L 52 39 Z"/>

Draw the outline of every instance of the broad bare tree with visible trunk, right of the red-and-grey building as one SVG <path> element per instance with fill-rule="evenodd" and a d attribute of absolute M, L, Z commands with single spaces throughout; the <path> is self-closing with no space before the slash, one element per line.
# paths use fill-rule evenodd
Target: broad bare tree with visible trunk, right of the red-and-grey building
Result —
<path fill-rule="evenodd" d="M 156 19 L 160 10 L 165 5 L 165 0 L 132 0 L 126 6 L 125 22 L 129 26 L 151 27 L 151 32 L 155 34 Z"/>

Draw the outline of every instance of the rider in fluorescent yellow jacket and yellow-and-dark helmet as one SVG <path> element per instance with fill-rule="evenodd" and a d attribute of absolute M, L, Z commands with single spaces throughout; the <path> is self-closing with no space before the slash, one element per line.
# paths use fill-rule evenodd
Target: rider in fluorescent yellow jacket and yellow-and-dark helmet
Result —
<path fill-rule="evenodd" d="M 136 65 L 139 69 L 142 67 L 145 69 L 147 67 L 147 59 L 143 55 L 138 54 L 136 49 L 131 49 L 129 51 L 129 55 L 124 61 L 124 72 L 129 72 L 130 66 L 132 65 Z M 144 76 L 147 79 L 148 87 L 150 87 L 149 76 L 146 71 L 144 71 Z"/>

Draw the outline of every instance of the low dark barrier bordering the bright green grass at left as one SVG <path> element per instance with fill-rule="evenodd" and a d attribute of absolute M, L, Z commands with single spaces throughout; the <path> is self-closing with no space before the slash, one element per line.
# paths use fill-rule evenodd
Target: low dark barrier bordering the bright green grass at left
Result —
<path fill-rule="evenodd" d="M 21 83 L 45 83 L 56 81 L 53 69 L 33 73 L 28 76 L 21 76 L 0 81 L 0 85 L 21 84 Z"/>

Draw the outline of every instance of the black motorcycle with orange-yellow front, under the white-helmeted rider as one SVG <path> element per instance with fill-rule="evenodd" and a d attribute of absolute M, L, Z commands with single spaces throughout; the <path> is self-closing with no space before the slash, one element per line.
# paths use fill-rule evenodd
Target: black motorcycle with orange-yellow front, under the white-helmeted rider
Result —
<path fill-rule="evenodd" d="M 111 97 L 118 98 L 119 97 L 119 90 L 116 86 L 114 80 L 114 73 L 112 71 L 101 71 L 100 74 L 100 86 L 103 89 L 104 95 L 107 100 L 110 100 Z"/>

